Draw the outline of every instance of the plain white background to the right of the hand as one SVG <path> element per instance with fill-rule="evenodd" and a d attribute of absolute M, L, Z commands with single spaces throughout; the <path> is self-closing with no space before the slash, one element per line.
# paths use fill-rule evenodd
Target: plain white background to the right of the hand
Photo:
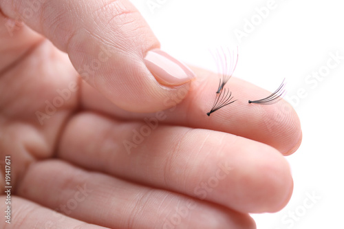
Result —
<path fill-rule="evenodd" d="M 216 71 L 209 50 L 238 45 L 235 76 L 270 91 L 287 78 L 287 99 L 294 98 L 303 129 L 300 149 L 287 157 L 294 193 L 280 212 L 252 215 L 257 228 L 344 228 L 344 58 L 327 67 L 331 53 L 344 57 L 343 1 L 151 0 L 157 8 L 148 0 L 131 1 L 162 49 L 186 63 Z M 272 10 L 259 16 L 256 8 L 270 3 Z M 252 19 L 250 31 L 245 25 Z M 246 31 L 242 39 L 235 36 L 239 30 Z M 323 76 L 314 78 L 319 71 Z"/>

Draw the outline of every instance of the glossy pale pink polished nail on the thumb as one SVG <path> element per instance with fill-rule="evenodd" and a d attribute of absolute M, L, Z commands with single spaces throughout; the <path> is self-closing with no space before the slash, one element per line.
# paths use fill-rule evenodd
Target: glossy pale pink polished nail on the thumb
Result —
<path fill-rule="evenodd" d="M 144 63 L 163 85 L 182 85 L 196 77 L 189 67 L 161 50 L 149 51 Z"/>

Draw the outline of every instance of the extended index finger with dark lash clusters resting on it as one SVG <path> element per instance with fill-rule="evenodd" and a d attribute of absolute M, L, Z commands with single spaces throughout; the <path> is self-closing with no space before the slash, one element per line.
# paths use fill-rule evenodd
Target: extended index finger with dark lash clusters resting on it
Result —
<path fill-rule="evenodd" d="M 213 105 L 219 78 L 204 69 L 193 67 L 193 71 L 199 81 L 193 82 L 189 94 L 180 104 L 177 105 L 178 94 L 166 98 L 164 102 L 175 102 L 175 107 L 164 111 L 149 114 L 123 111 L 86 85 L 82 93 L 83 107 L 110 113 L 121 119 L 142 120 L 143 129 L 145 126 L 155 129 L 160 123 L 213 129 L 269 144 L 283 155 L 290 155 L 299 148 L 302 139 L 301 124 L 288 102 L 280 100 L 268 106 L 248 104 L 248 100 L 264 98 L 270 92 L 232 77 L 225 87 L 232 91 L 237 101 L 208 117 L 206 113 Z M 180 93 L 184 93 L 184 90 Z M 140 129 L 136 131 L 140 133 Z"/>

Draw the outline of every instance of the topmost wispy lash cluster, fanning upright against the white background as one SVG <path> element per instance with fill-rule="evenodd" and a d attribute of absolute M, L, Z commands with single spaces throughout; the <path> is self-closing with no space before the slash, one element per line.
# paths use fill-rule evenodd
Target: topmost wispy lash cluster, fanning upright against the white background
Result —
<path fill-rule="evenodd" d="M 222 52 L 219 52 L 219 50 L 217 50 L 216 55 L 213 54 L 217 69 L 221 72 L 222 75 L 222 78 L 219 79 L 219 87 L 216 91 L 217 94 L 219 94 L 220 91 L 224 89 L 224 85 L 226 85 L 230 77 L 232 77 L 233 72 L 237 67 L 237 60 L 239 58 L 238 47 L 236 55 L 235 52 L 231 52 L 229 48 L 227 48 L 226 50 L 224 50 L 224 48 L 221 48 L 221 51 Z"/>

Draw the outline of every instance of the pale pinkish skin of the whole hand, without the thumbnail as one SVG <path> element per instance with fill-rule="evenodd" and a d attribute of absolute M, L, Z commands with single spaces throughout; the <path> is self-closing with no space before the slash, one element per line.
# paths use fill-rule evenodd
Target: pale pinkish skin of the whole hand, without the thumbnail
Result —
<path fill-rule="evenodd" d="M 0 3 L 0 154 L 11 155 L 14 209 L 1 228 L 255 228 L 250 212 L 286 206 L 284 156 L 302 138 L 287 102 L 249 105 L 269 92 L 233 77 L 238 101 L 208 117 L 218 76 L 193 67 L 195 80 L 157 83 L 142 59 L 160 44 L 129 2 L 41 1 L 23 17 L 30 8 Z M 25 23 L 12 36 L 9 19 Z M 100 47 L 111 55 L 81 80 Z M 36 111 L 71 84 L 40 122 Z M 123 142 L 160 110 L 128 153 Z M 3 193 L 3 170 L 0 181 Z"/>

